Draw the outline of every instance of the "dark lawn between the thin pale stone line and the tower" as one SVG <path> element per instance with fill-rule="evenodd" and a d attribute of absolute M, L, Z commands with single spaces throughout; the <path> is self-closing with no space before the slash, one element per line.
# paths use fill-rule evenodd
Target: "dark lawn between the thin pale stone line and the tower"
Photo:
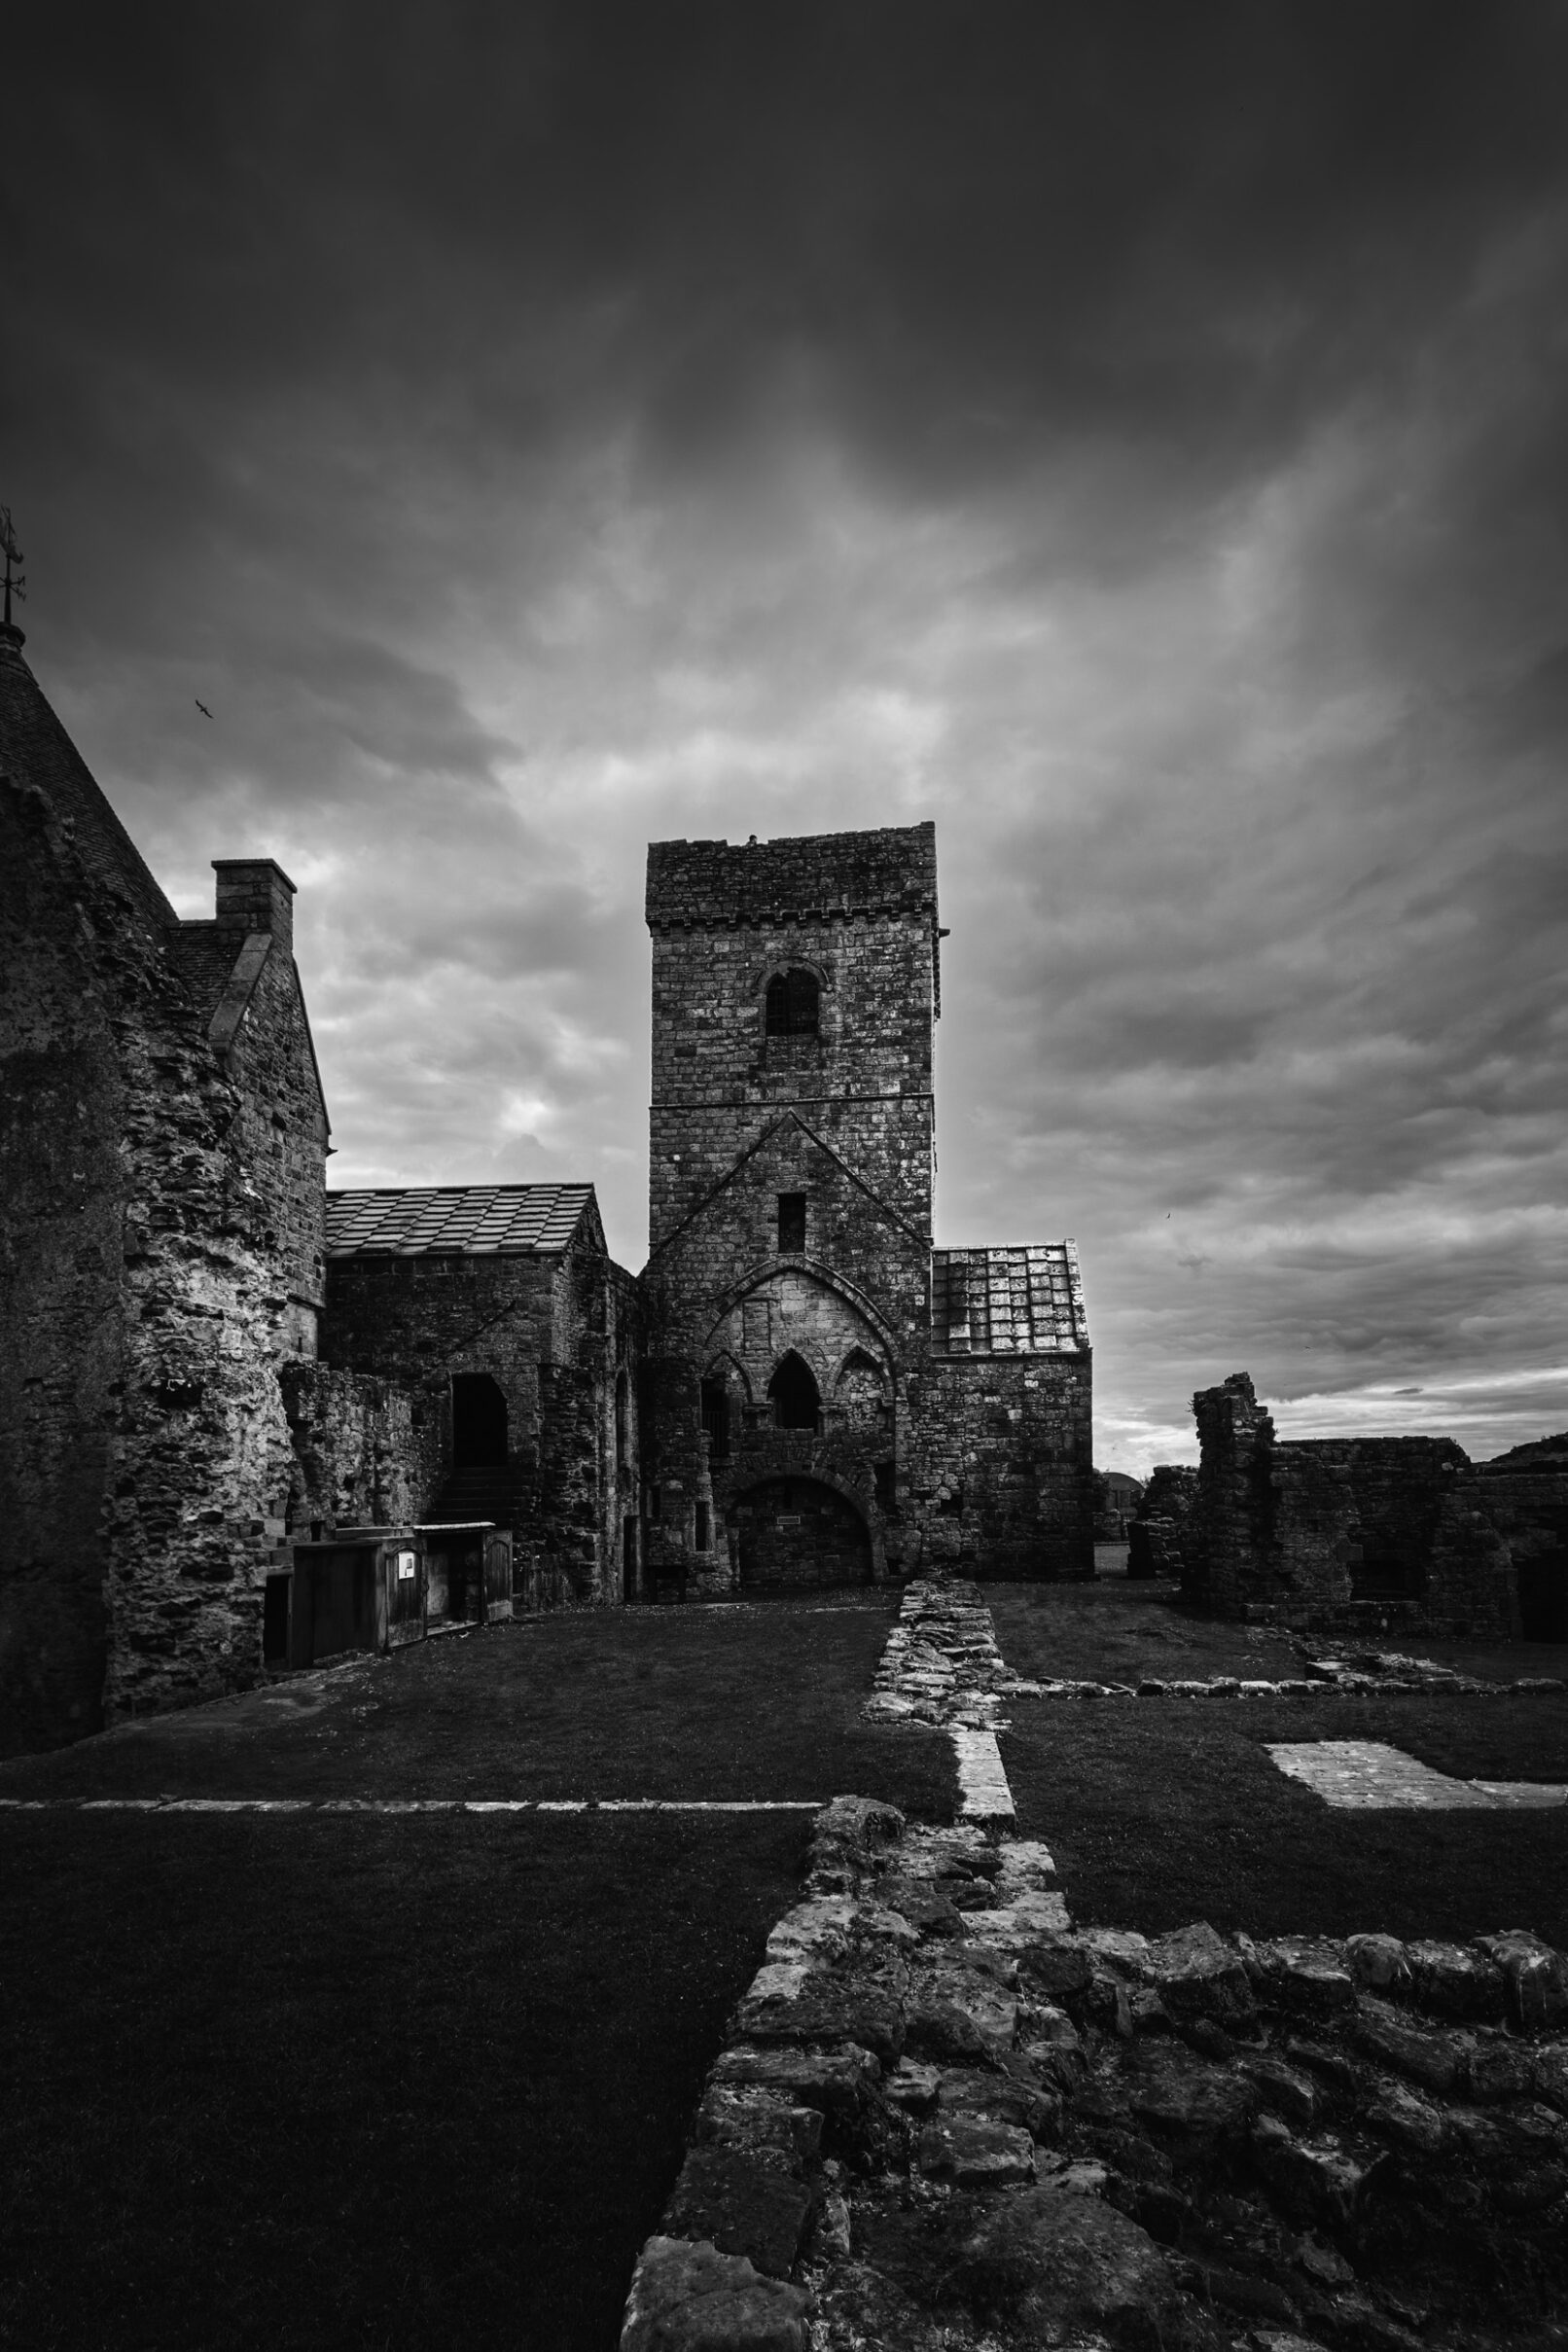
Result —
<path fill-rule="evenodd" d="M 947 1740 L 860 1724 L 896 1606 L 522 1618 L 0 1764 L 0 1797 L 853 1790 L 950 1818 Z"/>

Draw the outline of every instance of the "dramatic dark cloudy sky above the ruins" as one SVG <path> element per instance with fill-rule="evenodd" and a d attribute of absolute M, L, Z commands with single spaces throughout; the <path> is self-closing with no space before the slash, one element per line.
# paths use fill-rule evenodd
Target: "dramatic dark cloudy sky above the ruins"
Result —
<path fill-rule="evenodd" d="M 639 1265 L 644 842 L 933 816 L 938 1240 L 1077 1235 L 1105 1465 L 1568 1423 L 1563 7 L 28 14 L 28 656 L 299 882 L 339 1183 Z"/>

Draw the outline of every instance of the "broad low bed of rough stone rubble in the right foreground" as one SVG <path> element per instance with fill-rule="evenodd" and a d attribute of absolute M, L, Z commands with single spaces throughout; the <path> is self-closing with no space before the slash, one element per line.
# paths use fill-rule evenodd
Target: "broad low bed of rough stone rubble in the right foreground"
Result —
<path fill-rule="evenodd" d="M 837 1797 L 621 2343 L 1490 2352 L 1563 2310 L 1552 1945 L 1074 1931 L 1044 1846 Z"/>

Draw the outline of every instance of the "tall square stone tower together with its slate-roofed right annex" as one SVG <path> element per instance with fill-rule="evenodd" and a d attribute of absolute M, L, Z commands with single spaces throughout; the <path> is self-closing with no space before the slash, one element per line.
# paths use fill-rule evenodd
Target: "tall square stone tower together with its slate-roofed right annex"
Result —
<path fill-rule="evenodd" d="M 654 842 L 644 1562 L 1084 1573 L 1070 1244 L 931 1249 L 936 828 Z"/>

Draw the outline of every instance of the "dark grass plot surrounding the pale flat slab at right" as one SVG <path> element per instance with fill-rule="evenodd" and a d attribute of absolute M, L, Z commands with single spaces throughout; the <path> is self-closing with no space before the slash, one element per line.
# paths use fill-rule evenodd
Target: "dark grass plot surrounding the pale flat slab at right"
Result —
<path fill-rule="evenodd" d="M 1269 1740 L 1387 1740 L 1460 1778 L 1568 1780 L 1561 1698 L 1013 1700 L 1001 1759 L 1081 1924 L 1568 1945 L 1568 1811 L 1352 1813 Z"/>

